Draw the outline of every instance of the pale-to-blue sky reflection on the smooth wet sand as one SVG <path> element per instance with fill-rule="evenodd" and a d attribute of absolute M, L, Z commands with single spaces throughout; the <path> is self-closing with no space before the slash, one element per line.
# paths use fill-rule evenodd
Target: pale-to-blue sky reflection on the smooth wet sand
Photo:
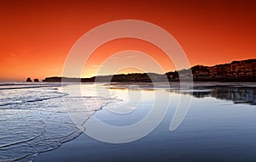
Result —
<path fill-rule="evenodd" d="M 145 85 L 143 88 L 145 88 Z M 113 109 L 113 104 L 108 104 L 107 107 L 96 112 L 95 116 L 98 120 L 111 126 L 134 124 L 148 114 L 152 109 L 153 102 L 155 102 L 154 109 L 161 109 L 166 96 L 169 95 L 170 104 L 164 120 L 154 131 L 135 142 L 112 144 L 99 142 L 84 136 L 84 141 L 77 142 L 80 149 L 75 149 L 73 154 L 78 161 L 90 159 L 94 162 L 102 160 L 254 161 L 256 109 L 248 104 L 234 104 L 231 99 L 218 99 L 223 96 L 225 98 L 234 97 L 236 96 L 234 92 L 246 96 L 247 92 L 251 92 L 249 90 L 251 88 L 197 87 L 195 93 L 192 93 L 189 89 L 170 92 L 166 91 L 165 87 L 157 88 L 155 91 L 145 91 L 139 88 L 137 90 L 111 89 L 111 92 L 116 94 L 119 99 L 124 98 L 123 101 L 117 103 L 120 109 L 123 106 L 138 103 L 137 109 L 133 109 L 127 114 L 118 114 L 116 111 L 110 111 L 116 110 L 118 107 Z M 156 92 L 159 93 L 156 94 Z M 253 92 L 255 91 L 253 90 Z M 193 94 L 196 98 L 192 98 L 188 115 L 177 130 L 169 131 L 179 97 L 183 96 L 186 99 L 190 97 L 190 94 Z M 200 94 L 203 97 L 200 96 L 202 98 L 199 98 L 195 94 Z M 215 98 L 213 94 L 216 94 L 218 98 Z M 159 98 L 154 100 L 157 95 L 159 95 Z M 134 132 L 134 134 L 136 133 Z M 73 147 L 76 146 L 73 145 Z M 63 148 L 65 149 L 65 146 Z M 73 159 L 72 156 L 68 156 L 69 154 L 57 156 L 57 153 L 58 150 L 55 150 L 45 156 L 55 157 L 57 162 L 67 161 L 67 159 L 72 161 Z"/>

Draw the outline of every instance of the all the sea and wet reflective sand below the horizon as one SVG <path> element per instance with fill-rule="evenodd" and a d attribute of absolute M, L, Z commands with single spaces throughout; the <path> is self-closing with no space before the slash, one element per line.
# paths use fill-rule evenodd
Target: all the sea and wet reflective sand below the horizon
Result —
<path fill-rule="evenodd" d="M 0 94 L 1 162 L 256 160 L 255 83 L 200 82 L 182 89 L 177 83 L 170 87 L 160 83 L 155 87 L 3 83 Z M 181 125 L 170 131 L 178 103 L 186 100 L 191 100 L 189 111 Z M 119 138 L 112 131 L 99 131 L 100 139 L 87 133 L 96 126 L 92 119 L 107 126 L 129 127 L 153 109 L 157 112 L 166 106 L 163 118 L 145 136 L 132 131 L 137 136 L 132 142 L 109 141 L 109 136 Z M 151 121 L 141 129 L 153 126 Z M 59 147 L 83 132 L 88 135 L 86 142 L 79 142 L 73 154 L 61 154 Z M 125 138 L 128 135 L 120 137 Z"/>

